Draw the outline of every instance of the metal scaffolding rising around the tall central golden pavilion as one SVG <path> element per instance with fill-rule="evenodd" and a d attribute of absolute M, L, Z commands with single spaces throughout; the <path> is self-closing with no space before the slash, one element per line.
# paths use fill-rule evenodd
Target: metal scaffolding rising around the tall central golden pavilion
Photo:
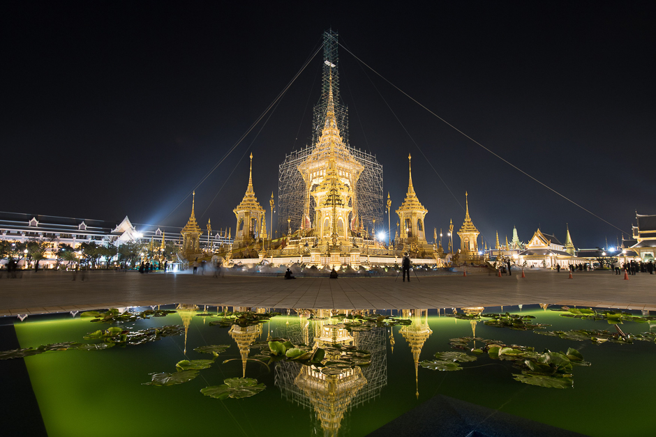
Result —
<path fill-rule="evenodd" d="M 373 220 L 382 224 L 382 165 L 378 163 L 375 155 L 352 148 L 348 144 L 348 108 L 339 99 L 338 65 L 337 33 L 332 30 L 326 31 L 324 33 L 322 93 L 313 111 L 312 144 L 285 155 L 285 160 L 278 166 L 278 233 L 280 235 L 288 232 L 288 219 L 292 231 L 299 229 L 301 225 L 307 187 L 298 167 L 312 153 L 321 136 L 326 117 L 330 80 L 332 80 L 339 133 L 349 153 L 364 167 L 355 185 L 357 215 L 360 217 L 360 224 L 370 231 L 373 229 Z M 330 79 L 330 75 L 332 75 L 332 79 Z M 314 199 L 311 199 L 310 220 L 314 222 Z"/>

